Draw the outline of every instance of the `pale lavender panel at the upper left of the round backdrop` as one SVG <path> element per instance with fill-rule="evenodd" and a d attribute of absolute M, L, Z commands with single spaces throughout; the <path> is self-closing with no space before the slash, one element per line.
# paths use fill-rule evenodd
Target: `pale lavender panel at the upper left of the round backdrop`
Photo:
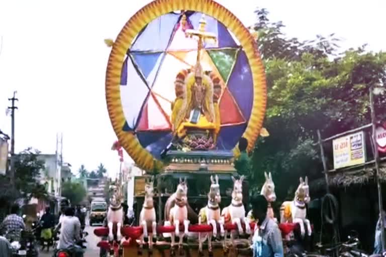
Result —
<path fill-rule="evenodd" d="M 180 15 L 165 14 L 151 21 L 137 37 L 132 51 L 164 51 Z"/>

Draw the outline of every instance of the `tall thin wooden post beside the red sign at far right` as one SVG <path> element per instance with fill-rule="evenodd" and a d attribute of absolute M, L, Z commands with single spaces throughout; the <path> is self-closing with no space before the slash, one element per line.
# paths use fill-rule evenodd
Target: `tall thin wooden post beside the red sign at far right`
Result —
<path fill-rule="evenodd" d="M 379 154 L 378 148 L 376 146 L 376 120 L 375 120 L 375 110 L 374 110 L 374 94 L 373 94 L 373 86 L 370 86 L 370 109 L 371 109 L 371 123 L 372 123 L 372 147 L 374 153 L 374 161 L 375 161 L 375 171 L 376 171 L 376 184 L 378 188 L 378 204 L 379 204 L 379 217 L 380 217 L 380 235 L 382 241 L 382 251 L 385 250 L 385 241 L 384 241 L 384 215 L 383 215 L 383 203 L 382 203 L 382 187 L 379 180 Z"/>

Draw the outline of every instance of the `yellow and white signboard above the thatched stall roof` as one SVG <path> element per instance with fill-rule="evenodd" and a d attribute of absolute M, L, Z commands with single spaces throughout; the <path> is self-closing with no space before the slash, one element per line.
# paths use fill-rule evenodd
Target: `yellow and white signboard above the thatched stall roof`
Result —
<path fill-rule="evenodd" d="M 358 132 L 332 141 L 334 169 L 366 162 L 364 133 Z"/>

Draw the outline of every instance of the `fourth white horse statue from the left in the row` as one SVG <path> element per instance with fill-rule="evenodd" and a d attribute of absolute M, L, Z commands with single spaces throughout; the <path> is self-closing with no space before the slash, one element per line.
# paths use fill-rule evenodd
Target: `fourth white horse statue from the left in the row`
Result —
<path fill-rule="evenodd" d="M 215 180 L 216 179 L 216 180 Z M 212 235 L 217 236 L 217 223 L 220 224 L 220 234 L 224 236 L 224 217 L 221 217 L 220 206 L 221 195 L 220 195 L 220 185 L 219 177 L 216 175 L 215 179 L 211 176 L 211 188 L 208 194 L 208 204 L 200 210 L 199 213 L 199 224 L 206 222 L 211 224 L 213 227 L 212 232 L 203 233 L 199 232 L 199 252 L 202 254 L 203 251 L 203 242 L 208 237 L 208 249 L 209 252 L 212 252 Z"/>

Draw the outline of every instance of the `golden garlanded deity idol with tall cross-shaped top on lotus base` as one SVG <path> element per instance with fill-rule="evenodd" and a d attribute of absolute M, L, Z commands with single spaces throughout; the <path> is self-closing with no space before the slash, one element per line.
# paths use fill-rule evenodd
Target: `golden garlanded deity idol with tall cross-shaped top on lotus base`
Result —
<path fill-rule="evenodd" d="M 203 17 L 199 30 L 185 31 L 187 37 L 198 39 L 197 63 L 191 70 L 181 70 L 174 82 L 176 99 L 171 123 L 174 144 L 183 150 L 214 149 L 220 131 L 221 80 L 214 72 L 204 71 L 200 64 L 203 43 L 217 40 L 214 34 L 205 31 L 205 25 Z"/>

